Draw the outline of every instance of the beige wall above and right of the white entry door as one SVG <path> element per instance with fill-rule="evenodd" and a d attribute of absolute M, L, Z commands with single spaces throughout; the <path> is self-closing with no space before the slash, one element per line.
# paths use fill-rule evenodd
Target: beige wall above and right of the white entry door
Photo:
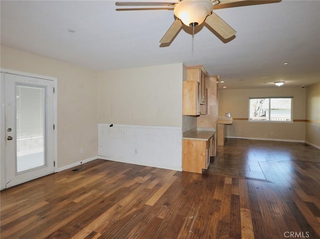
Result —
<path fill-rule="evenodd" d="M 57 166 L 96 156 L 96 73 L 4 46 L 0 53 L 1 68 L 57 78 Z"/>

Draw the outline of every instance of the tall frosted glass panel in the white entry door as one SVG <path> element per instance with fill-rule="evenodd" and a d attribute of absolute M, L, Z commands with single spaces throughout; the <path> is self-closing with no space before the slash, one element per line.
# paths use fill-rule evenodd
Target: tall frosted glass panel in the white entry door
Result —
<path fill-rule="evenodd" d="M 16 85 L 16 173 L 46 165 L 45 87 Z"/>

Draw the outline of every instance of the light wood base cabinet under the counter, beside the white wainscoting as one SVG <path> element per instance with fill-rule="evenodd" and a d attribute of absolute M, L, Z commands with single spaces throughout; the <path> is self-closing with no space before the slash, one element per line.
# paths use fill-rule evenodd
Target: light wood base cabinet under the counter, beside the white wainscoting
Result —
<path fill-rule="evenodd" d="M 202 173 L 202 169 L 207 169 L 210 163 L 210 145 L 212 137 L 209 140 L 182 140 L 182 171 L 192 173 Z"/>

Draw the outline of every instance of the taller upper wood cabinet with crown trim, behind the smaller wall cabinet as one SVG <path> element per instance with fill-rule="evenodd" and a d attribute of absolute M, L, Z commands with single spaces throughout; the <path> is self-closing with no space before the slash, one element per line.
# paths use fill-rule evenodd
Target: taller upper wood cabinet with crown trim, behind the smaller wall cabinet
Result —
<path fill-rule="evenodd" d="M 187 66 L 186 70 L 187 81 L 196 80 L 200 83 L 200 104 L 205 104 L 205 76 L 207 75 L 206 70 L 202 65 Z"/>

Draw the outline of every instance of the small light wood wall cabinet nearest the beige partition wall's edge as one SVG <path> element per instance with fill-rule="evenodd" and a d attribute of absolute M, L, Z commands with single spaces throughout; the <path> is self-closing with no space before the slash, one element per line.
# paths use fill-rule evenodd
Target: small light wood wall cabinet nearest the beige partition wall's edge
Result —
<path fill-rule="evenodd" d="M 182 114 L 200 115 L 200 83 L 198 81 L 182 82 Z"/>

